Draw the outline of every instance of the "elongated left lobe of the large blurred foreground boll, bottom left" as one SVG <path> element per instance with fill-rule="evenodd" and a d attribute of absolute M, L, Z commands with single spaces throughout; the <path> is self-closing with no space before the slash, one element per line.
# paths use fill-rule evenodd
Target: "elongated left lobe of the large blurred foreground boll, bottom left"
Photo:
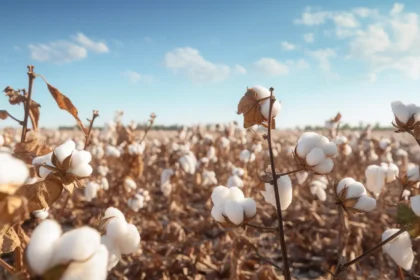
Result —
<path fill-rule="evenodd" d="M 26 259 L 34 274 L 43 275 L 49 268 L 61 233 L 60 225 L 54 220 L 41 222 L 33 231 L 26 249 Z"/>

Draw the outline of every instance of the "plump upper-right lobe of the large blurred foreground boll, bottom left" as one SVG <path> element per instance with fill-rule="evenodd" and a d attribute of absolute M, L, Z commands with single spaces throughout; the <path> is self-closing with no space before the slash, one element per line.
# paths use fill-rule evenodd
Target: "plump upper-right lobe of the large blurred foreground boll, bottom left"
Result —
<path fill-rule="evenodd" d="M 51 267 L 69 261 L 83 261 L 91 257 L 101 243 L 101 236 L 93 228 L 84 226 L 64 233 L 58 240 L 51 258 Z"/>

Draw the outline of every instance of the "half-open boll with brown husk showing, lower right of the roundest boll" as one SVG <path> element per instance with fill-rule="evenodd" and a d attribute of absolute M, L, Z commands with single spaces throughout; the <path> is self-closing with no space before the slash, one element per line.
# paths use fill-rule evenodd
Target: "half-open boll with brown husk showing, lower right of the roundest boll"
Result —
<path fill-rule="evenodd" d="M 368 196 L 365 186 L 347 177 L 342 179 L 335 187 L 337 202 L 349 212 L 370 212 L 376 208 L 376 200 Z"/>

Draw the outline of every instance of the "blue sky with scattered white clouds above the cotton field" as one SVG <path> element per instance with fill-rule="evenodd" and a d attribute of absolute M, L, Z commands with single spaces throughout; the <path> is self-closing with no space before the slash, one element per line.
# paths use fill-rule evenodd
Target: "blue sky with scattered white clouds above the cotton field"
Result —
<path fill-rule="evenodd" d="M 240 120 L 247 86 L 273 86 L 279 127 L 388 125 L 390 103 L 420 103 L 420 1 L 6 1 L 0 87 L 27 87 L 26 65 L 82 119 L 195 124 Z M 40 125 L 73 125 L 36 79 Z M 0 109 L 21 118 L 2 98 Z M 0 127 L 14 125 L 0 122 Z"/>

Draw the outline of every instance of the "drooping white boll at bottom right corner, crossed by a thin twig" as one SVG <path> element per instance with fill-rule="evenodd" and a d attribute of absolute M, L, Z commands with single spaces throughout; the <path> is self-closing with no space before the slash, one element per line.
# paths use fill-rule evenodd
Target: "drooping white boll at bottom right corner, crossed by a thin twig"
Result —
<path fill-rule="evenodd" d="M 382 234 L 382 241 L 388 239 L 399 229 L 388 229 Z M 408 271 L 411 269 L 414 261 L 414 253 L 412 243 L 408 232 L 400 234 L 392 241 L 382 247 L 384 253 L 388 254 L 391 259 L 401 268 Z"/>

